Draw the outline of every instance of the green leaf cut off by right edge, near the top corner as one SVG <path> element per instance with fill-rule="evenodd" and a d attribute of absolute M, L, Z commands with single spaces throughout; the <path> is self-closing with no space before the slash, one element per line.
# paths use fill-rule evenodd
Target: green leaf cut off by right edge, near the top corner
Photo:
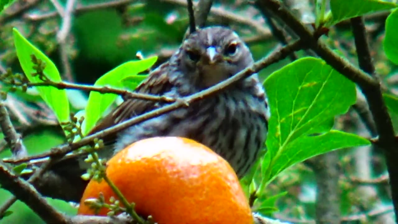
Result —
<path fill-rule="evenodd" d="M 398 9 L 392 11 L 386 20 L 386 34 L 383 41 L 384 52 L 388 59 L 398 65 Z"/>

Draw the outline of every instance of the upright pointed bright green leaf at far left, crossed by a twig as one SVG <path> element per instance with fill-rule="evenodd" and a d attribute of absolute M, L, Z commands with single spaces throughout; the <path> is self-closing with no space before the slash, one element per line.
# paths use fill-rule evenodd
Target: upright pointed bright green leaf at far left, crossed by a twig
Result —
<path fill-rule="evenodd" d="M 25 39 L 25 37 L 23 37 L 16 28 L 14 28 L 13 31 L 17 56 L 27 79 L 32 83 L 43 82 L 39 77 L 32 76 L 32 73 L 35 73 L 36 71 L 33 69 L 34 64 L 31 61 L 31 55 L 35 55 L 37 59 L 41 59 L 45 62 L 46 66 L 43 70 L 44 75 L 46 75 L 51 81 L 60 82 L 61 77 L 54 63 L 44 53 Z M 60 90 L 52 86 L 40 86 L 37 87 L 37 90 L 39 91 L 41 98 L 43 98 L 47 105 L 54 111 L 59 122 L 66 122 L 69 120 L 69 101 L 66 96 L 66 90 Z"/>

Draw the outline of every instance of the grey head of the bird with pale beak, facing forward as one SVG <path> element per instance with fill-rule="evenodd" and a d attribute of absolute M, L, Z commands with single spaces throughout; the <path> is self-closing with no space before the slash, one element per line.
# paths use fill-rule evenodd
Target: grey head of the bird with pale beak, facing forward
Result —
<path fill-rule="evenodd" d="M 178 52 L 179 68 L 196 88 L 217 84 L 253 63 L 242 39 L 231 29 L 198 29 L 185 39 Z"/>

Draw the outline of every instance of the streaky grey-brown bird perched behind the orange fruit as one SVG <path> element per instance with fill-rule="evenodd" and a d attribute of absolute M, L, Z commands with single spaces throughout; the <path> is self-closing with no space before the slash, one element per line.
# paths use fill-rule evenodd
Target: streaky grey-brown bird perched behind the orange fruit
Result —
<path fill-rule="evenodd" d="M 254 59 L 232 29 L 197 29 L 183 41 L 169 61 L 154 69 L 135 92 L 173 98 L 188 96 L 228 79 Z M 127 98 L 105 116 L 89 134 L 154 110 L 166 103 Z M 243 177 L 265 147 L 268 105 L 258 75 L 253 74 L 188 107 L 135 124 L 107 136 L 113 153 L 131 143 L 157 136 L 190 138 L 226 159 Z"/>

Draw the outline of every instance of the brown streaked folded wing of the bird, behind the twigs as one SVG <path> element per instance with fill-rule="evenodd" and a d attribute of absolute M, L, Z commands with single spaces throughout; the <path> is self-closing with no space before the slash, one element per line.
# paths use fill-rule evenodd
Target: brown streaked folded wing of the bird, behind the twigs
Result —
<path fill-rule="evenodd" d="M 160 65 L 137 86 L 135 92 L 161 96 L 170 91 L 173 85 L 169 80 L 169 70 L 169 63 L 166 62 Z M 134 98 L 126 99 L 111 113 L 100 120 L 100 122 L 90 131 L 89 135 L 109 128 L 115 124 L 119 124 L 131 117 L 154 110 L 158 105 L 158 103 L 152 100 L 139 100 Z M 114 141 L 115 138 L 116 136 L 109 136 L 103 141 L 110 143 L 109 141 Z"/>

